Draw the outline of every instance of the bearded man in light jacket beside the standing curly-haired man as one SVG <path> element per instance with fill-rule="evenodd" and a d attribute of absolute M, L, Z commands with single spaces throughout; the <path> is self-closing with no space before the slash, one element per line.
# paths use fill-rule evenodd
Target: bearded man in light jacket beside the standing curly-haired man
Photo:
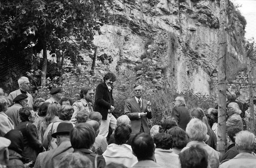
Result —
<path fill-rule="evenodd" d="M 80 96 L 80 100 L 76 101 L 73 104 L 74 113 L 72 115 L 71 121 L 76 121 L 77 113 L 81 110 L 85 110 L 88 113 L 93 112 L 91 102 L 92 102 L 92 98 L 94 96 L 94 91 L 93 91 L 92 87 L 87 86 L 87 85 L 82 87 L 79 96 Z"/>

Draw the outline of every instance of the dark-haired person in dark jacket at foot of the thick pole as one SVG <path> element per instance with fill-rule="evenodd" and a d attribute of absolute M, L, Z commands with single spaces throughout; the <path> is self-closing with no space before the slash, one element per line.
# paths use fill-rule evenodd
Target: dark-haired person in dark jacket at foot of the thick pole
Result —
<path fill-rule="evenodd" d="M 242 131 L 242 129 L 239 127 L 231 127 L 227 130 L 227 142 L 229 146 L 227 152 L 222 156 L 219 162 L 227 159 L 233 159 L 236 155 L 239 154 L 236 149 L 235 135 L 240 131 Z"/>

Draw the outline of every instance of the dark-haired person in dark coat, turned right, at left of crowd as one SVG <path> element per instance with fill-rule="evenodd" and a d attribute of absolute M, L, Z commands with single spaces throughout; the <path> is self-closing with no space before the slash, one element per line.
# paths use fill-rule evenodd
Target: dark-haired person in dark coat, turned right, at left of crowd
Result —
<path fill-rule="evenodd" d="M 19 110 L 19 116 L 21 123 L 17 125 L 16 129 L 23 135 L 23 154 L 29 158 L 29 161 L 35 161 L 38 154 L 43 151 L 43 146 L 38 141 L 37 127 L 32 124 L 35 121 L 35 113 L 32 107 L 22 107 Z"/>

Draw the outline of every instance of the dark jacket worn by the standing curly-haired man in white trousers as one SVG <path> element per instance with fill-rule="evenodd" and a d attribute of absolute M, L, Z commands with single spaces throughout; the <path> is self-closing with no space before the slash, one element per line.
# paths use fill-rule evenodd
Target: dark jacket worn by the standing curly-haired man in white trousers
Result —
<path fill-rule="evenodd" d="M 111 105 L 114 106 L 112 91 L 113 89 L 111 91 L 108 90 L 105 82 L 101 82 L 96 87 L 93 111 L 99 112 L 103 120 L 107 119 Z"/>

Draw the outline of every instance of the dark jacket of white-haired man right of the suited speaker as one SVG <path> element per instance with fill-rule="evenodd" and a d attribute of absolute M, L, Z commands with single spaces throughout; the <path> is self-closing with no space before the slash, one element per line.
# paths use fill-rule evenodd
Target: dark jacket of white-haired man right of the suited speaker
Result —
<path fill-rule="evenodd" d="M 185 105 L 174 107 L 172 109 L 172 117 L 175 118 L 179 127 L 186 131 L 187 124 L 190 121 L 190 114 Z"/>

